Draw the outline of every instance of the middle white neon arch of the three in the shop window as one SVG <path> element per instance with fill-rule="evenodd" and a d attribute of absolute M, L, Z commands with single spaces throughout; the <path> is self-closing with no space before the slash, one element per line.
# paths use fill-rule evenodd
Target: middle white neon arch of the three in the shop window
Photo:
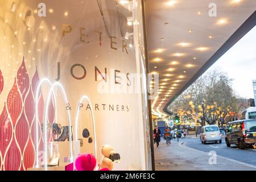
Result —
<path fill-rule="evenodd" d="M 61 89 L 61 92 L 64 96 L 64 101 L 65 104 L 68 104 L 68 98 L 67 94 L 65 93 L 65 90 L 63 86 L 59 82 L 55 82 L 52 86 L 51 89 L 48 92 L 48 97 L 47 97 L 47 102 L 45 105 L 44 109 L 44 170 L 47 171 L 47 116 L 48 116 L 48 107 L 49 107 L 49 102 L 51 101 L 51 96 L 53 93 L 53 90 L 55 87 L 59 87 Z M 54 95 L 54 94 L 53 94 Z M 69 162 L 73 162 L 73 147 L 72 147 L 72 131 L 71 131 L 71 113 L 70 110 L 68 111 L 68 125 L 69 125 L 69 154 L 71 155 L 71 159 Z"/>

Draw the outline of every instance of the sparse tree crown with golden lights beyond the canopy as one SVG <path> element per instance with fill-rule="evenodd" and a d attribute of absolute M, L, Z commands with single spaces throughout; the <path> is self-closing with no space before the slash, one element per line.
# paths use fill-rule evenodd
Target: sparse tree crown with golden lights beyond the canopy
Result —
<path fill-rule="evenodd" d="M 239 110 L 231 85 L 232 80 L 220 69 L 208 71 L 170 105 L 170 110 L 193 118 L 201 125 L 205 122 L 213 125 L 217 121 L 223 125 L 230 113 Z"/>

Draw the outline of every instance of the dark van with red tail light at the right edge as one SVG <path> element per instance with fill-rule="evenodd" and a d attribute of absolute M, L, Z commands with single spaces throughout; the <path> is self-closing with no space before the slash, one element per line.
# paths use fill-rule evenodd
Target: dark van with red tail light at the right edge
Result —
<path fill-rule="evenodd" d="M 230 144 L 236 144 L 241 149 L 253 146 L 256 143 L 256 119 L 230 122 L 225 140 L 227 147 Z"/>

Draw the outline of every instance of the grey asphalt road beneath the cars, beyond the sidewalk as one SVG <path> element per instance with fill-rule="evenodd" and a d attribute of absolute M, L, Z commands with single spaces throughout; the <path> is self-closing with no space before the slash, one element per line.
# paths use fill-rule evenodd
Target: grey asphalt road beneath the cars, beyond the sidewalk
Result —
<path fill-rule="evenodd" d="M 225 139 L 222 138 L 222 143 L 207 142 L 202 144 L 200 138 L 185 138 L 180 139 L 180 141 L 185 142 L 185 146 L 200 150 L 203 152 L 215 151 L 217 155 L 223 156 L 225 158 L 238 160 L 243 163 L 252 164 L 256 166 L 256 150 L 253 148 L 246 148 L 241 150 L 236 147 L 236 145 L 231 145 L 227 147 Z"/>

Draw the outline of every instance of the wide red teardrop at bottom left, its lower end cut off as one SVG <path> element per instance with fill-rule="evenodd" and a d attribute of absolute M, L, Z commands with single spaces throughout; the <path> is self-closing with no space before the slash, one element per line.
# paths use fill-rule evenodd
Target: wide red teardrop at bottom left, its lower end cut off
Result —
<path fill-rule="evenodd" d="M 11 142 L 11 146 L 6 153 L 5 158 L 5 170 L 6 171 L 18 171 L 21 164 L 20 151 L 17 147 L 15 139 Z"/>

